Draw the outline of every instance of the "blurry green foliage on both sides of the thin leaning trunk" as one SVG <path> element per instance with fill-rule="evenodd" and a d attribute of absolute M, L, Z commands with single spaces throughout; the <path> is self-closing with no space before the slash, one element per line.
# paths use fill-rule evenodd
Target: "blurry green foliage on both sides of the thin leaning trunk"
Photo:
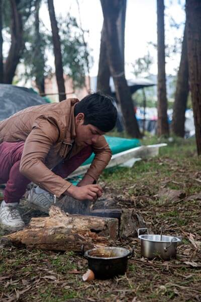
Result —
<path fill-rule="evenodd" d="M 61 54 L 64 72 L 72 78 L 74 87 L 82 87 L 85 83 L 87 67 L 92 63 L 89 56 L 88 46 L 83 39 L 82 29 L 78 26 L 76 19 L 68 14 L 65 19 L 57 18 Z M 35 18 L 30 18 L 29 24 L 25 28 L 25 50 L 23 53 L 23 63 L 26 67 L 26 79 L 38 79 L 39 81 L 52 73 L 52 69 L 47 65 L 46 53 L 53 54 L 52 35 L 40 22 L 40 36 L 35 31 Z"/>

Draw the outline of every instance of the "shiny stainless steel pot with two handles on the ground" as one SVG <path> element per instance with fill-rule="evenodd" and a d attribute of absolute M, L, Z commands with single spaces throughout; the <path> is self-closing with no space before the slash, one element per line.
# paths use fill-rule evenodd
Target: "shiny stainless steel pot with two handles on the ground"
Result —
<path fill-rule="evenodd" d="M 146 235 L 140 235 L 141 231 Z M 176 258 L 177 243 L 182 237 L 149 234 L 148 229 L 138 229 L 138 238 L 141 240 L 141 256 L 153 259 L 156 257 L 164 260 Z"/>

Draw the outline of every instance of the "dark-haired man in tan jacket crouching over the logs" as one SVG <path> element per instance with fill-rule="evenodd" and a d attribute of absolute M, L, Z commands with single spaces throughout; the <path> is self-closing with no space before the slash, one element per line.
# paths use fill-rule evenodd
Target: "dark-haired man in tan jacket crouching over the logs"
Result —
<path fill-rule="evenodd" d="M 31 202 L 44 211 L 61 195 L 92 201 L 100 197 L 103 191 L 96 181 L 112 156 L 104 134 L 114 128 L 116 119 L 111 98 L 94 93 L 80 102 L 67 99 L 29 107 L 1 121 L 0 183 L 6 183 L 2 227 L 24 227 L 17 205 L 31 181 L 38 185 Z M 66 181 L 92 152 L 94 160 L 78 185 Z"/>

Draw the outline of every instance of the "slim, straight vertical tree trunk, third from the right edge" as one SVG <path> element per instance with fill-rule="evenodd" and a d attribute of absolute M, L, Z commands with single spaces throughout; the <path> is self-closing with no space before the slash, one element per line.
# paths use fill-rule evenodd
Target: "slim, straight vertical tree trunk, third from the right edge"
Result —
<path fill-rule="evenodd" d="M 158 135 L 169 135 L 165 80 L 164 0 L 157 0 L 158 40 Z"/>

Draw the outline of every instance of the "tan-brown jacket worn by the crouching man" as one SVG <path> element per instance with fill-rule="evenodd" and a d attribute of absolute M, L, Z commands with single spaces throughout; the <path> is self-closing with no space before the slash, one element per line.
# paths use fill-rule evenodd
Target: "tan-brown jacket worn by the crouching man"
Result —
<path fill-rule="evenodd" d="M 0 122 L 0 143 L 25 141 L 20 172 L 45 190 L 60 197 L 71 185 L 50 169 L 83 147 L 73 144 L 76 136 L 74 106 L 77 99 L 26 108 Z M 72 147 L 72 150 L 71 150 Z M 86 174 L 97 180 L 112 152 L 104 136 L 92 145 L 95 157 Z"/>

